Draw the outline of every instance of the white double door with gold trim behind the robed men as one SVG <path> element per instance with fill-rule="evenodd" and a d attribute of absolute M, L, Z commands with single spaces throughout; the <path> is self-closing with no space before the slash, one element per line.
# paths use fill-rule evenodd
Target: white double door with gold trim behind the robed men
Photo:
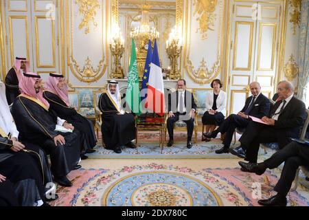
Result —
<path fill-rule="evenodd" d="M 1 1 L 7 70 L 19 56 L 30 61 L 32 72 L 59 71 L 57 6 L 58 0 Z"/>

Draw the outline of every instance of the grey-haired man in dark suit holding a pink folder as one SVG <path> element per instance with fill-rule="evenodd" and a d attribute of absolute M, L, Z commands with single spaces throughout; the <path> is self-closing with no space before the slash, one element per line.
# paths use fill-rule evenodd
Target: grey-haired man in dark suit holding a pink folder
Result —
<path fill-rule="evenodd" d="M 262 118 L 266 124 L 251 121 L 240 137 L 240 148 L 246 152 L 245 159 L 251 163 L 257 162 L 260 143 L 278 142 L 282 149 L 290 142 L 290 137 L 299 138 L 304 125 L 306 106 L 293 96 L 292 83 L 280 82 L 277 92 L 279 101 L 271 107 L 268 117 Z M 243 157 L 238 149 L 231 149 L 230 152 Z"/>

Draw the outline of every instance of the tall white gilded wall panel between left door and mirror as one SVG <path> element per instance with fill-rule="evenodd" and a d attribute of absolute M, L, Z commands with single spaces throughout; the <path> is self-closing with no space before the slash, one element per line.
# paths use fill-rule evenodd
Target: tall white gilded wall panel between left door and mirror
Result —
<path fill-rule="evenodd" d="M 82 3 L 65 1 L 69 86 L 100 87 L 108 65 L 108 0 L 88 2 L 90 8 Z M 80 14 L 81 7 L 89 14 Z"/>

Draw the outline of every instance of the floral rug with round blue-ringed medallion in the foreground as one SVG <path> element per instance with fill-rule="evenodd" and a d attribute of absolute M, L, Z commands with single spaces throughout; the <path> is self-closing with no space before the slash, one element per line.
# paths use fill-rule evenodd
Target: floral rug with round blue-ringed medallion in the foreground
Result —
<path fill-rule="evenodd" d="M 119 169 L 80 169 L 69 174 L 71 188 L 58 188 L 52 206 L 258 206 L 271 195 L 277 177 L 239 168 L 192 170 L 164 164 Z M 309 206 L 297 191 L 288 206 Z"/>

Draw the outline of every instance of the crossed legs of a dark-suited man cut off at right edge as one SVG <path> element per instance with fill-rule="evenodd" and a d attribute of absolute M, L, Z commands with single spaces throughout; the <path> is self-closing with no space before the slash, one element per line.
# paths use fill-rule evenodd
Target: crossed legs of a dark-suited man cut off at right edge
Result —
<path fill-rule="evenodd" d="M 245 172 L 256 173 L 262 175 L 266 168 L 276 168 L 284 162 L 284 168 L 279 181 L 274 190 L 277 195 L 269 199 L 259 200 L 258 203 L 262 206 L 286 206 L 286 195 L 292 186 L 295 179 L 296 171 L 299 166 L 309 166 L 309 145 L 301 144 L 299 142 L 290 142 L 282 150 L 277 151 L 264 162 L 245 163 L 239 162 L 242 170 Z"/>

